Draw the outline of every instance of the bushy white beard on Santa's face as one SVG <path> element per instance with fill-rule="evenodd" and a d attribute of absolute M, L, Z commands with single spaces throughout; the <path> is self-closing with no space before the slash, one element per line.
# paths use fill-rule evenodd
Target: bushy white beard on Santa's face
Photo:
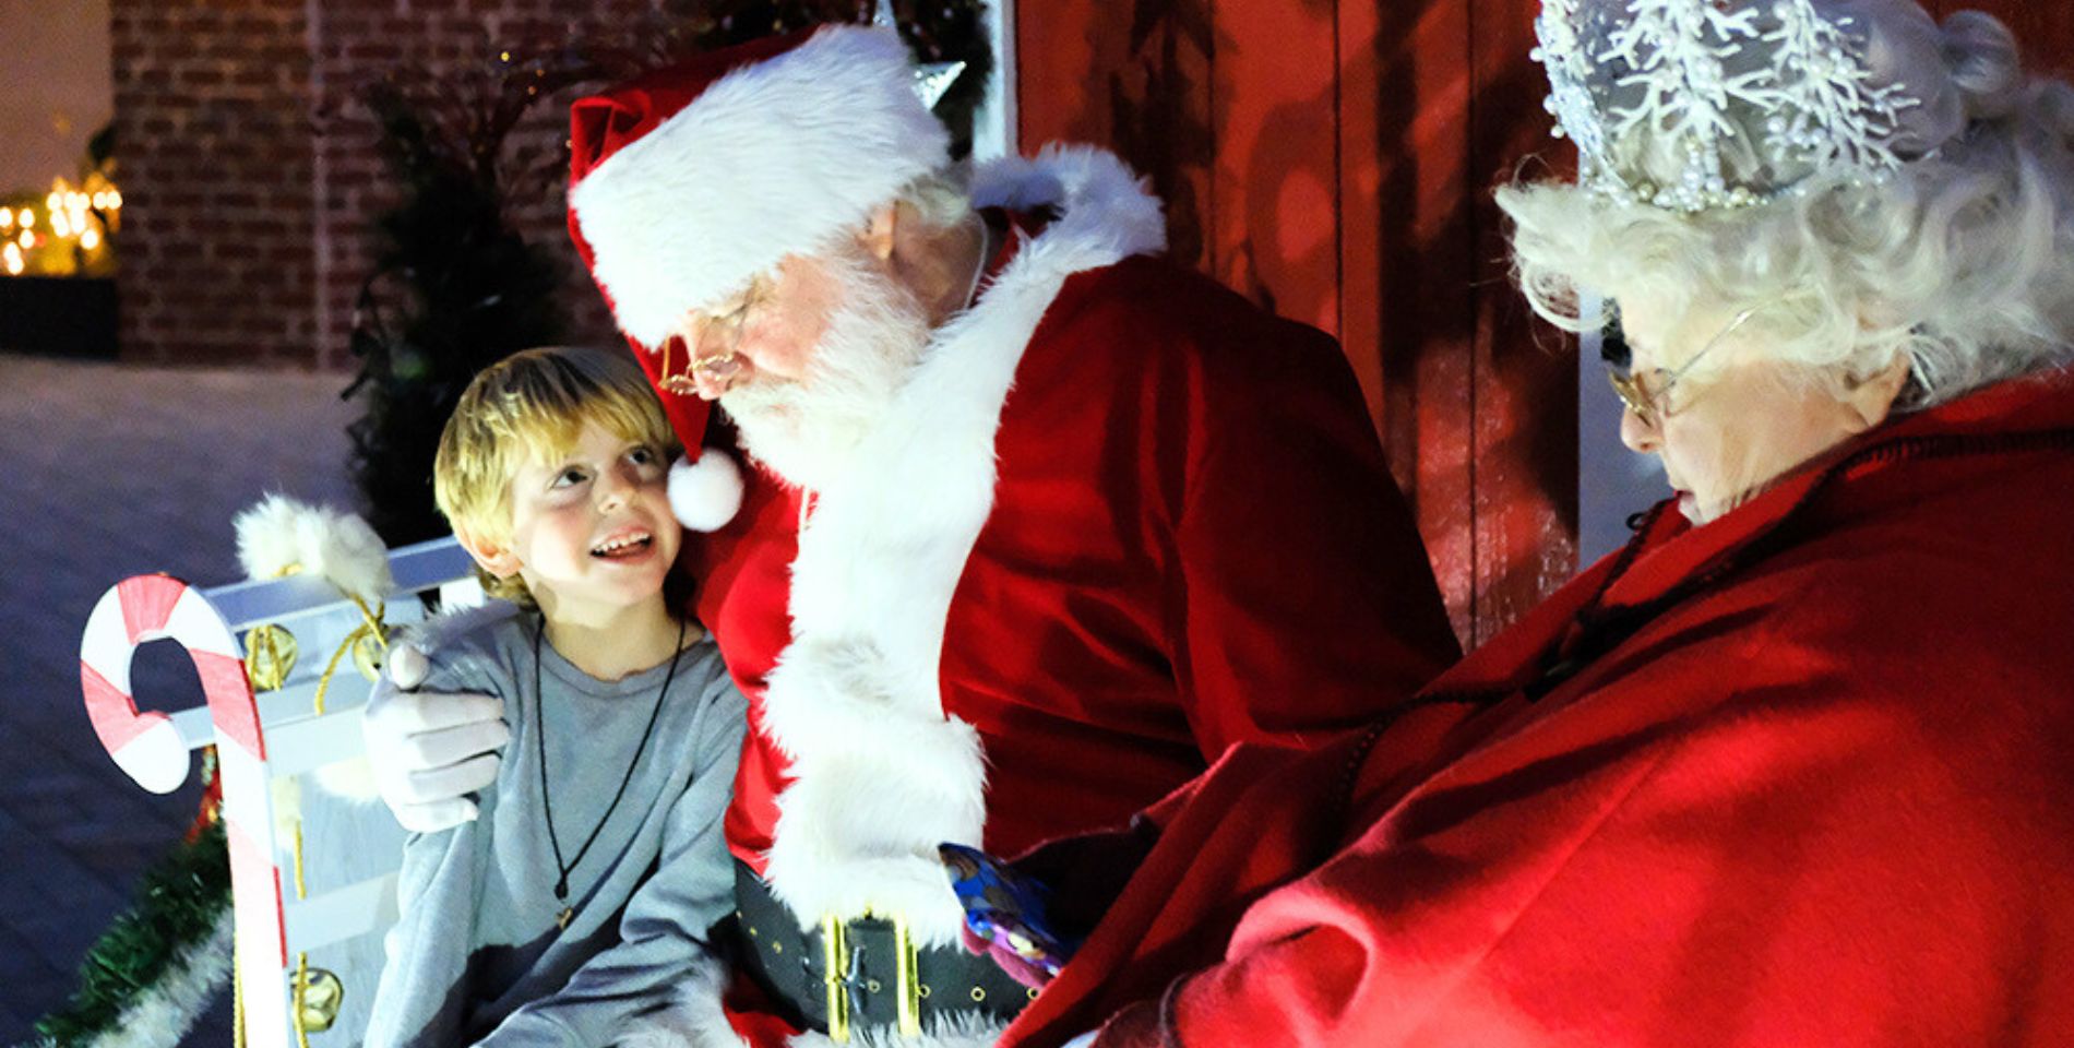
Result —
<path fill-rule="evenodd" d="M 906 286 L 863 257 L 844 253 L 828 266 L 842 282 L 842 307 L 830 315 L 807 376 L 757 376 L 720 396 L 742 450 L 811 492 L 850 467 L 929 344 L 929 318 Z"/>

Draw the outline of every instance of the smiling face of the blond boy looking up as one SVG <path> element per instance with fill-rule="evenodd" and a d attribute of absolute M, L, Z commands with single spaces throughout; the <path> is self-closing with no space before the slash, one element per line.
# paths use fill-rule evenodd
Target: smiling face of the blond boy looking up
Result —
<path fill-rule="evenodd" d="M 516 571 L 550 618 L 610 625 L 662 600 L 682 542 L 662 448 L 585 421 L 564 454 L 518 467 L 510 504 L 510 540 L 475 554 Z"/>

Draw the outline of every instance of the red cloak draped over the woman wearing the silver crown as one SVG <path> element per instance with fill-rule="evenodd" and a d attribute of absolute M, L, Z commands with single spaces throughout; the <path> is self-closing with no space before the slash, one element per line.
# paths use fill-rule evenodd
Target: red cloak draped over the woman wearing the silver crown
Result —
<path fill-rule="evenodd" d="M 1176 797 L 1004 1044 L 2074 1044 L 2070 519 L 2064 376 L 1659 506 L 1423 706 Z"/>

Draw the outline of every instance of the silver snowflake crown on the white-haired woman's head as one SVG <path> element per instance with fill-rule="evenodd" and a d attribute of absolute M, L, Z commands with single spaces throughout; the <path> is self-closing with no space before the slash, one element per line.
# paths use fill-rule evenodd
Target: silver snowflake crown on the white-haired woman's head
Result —
<path fill-rule="evenodd" d="M 1697 214 L 1902 166 L 1894 135 L 1918 100 L 1875 83 L 1854 19 L 1815 0 L 1545 0 L 1535 33 L 1555 135 L 1576 141 L 1578 183 L 1614 199 Z M 1750 114 L 1761 141 L 1740 141 Z M 1634 135 L 1682 151 L 1678 174 L 1624 172 Z M 1732 174 L 1730 156 L 1771 174 Z"/>

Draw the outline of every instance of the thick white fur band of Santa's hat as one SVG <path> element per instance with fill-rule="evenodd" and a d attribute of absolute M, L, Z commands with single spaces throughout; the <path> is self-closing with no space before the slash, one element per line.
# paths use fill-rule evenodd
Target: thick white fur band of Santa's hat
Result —
<path fill-rule="evenodd" d="M 664 344 L 686 313 L 942 168 L 950 137 L 913 83 L 898 33 L 832 25 L 606 158 L 568 201 L 620 330 Z"/>

